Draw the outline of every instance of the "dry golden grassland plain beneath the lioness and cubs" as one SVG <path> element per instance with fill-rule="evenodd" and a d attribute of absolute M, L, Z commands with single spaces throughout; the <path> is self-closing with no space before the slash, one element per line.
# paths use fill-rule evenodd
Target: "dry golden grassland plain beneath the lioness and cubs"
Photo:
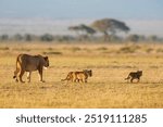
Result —
<path fill-rule="evenodd" d="M 46 82 L 15 82 L 18 53 L 48 55 Z M 61 79 L 71 71 L 92 69 L 87 84 Z M 124 78 L 142 69 L 140 82 Z M 26 75 L 24 75 L 26 80 Z M 0 107 L 163 107 L 163 45 L 155 43 L 0 43 Z"/>

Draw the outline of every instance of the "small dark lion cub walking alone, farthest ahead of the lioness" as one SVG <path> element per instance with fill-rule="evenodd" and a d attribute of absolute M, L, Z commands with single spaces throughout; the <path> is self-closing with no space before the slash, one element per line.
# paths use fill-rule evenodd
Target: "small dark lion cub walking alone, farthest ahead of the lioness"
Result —
<path fill-rule="evenodd" d="M 125 80 L 130 79 L 130 82 L 133 82 L 134 79 L 137 79 L 137 82 L 139 82 L 141 76 L 142 76 L 142 71 L 130 72 L 128 77 L 125 78 Z"/>

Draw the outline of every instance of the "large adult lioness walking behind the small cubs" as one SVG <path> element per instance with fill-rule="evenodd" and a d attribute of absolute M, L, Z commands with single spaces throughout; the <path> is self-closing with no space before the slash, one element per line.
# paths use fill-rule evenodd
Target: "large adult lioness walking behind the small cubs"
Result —
<path fill-rule="evenodd" d="M 32 72 L 38 71 L 39 73 L 39 80 L 42 80 L 42 69 L 43 67 L 49 66 L 49 59 L 48 56 L 38 55 L 29 55 L 29 54 L 20 54 L 16 59 L 16 71 L 14 71 L 14 76 L 16 81 L 25 82 L 22 79 L 22 76 L 25 72 L 27 72 L 27 79 L 28 82 L 30 81 Z"/>

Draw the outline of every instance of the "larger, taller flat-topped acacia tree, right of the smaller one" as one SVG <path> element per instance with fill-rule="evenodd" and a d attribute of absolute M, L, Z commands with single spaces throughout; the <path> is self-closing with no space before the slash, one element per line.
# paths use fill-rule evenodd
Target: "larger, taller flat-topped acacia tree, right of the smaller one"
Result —
<path fill-rule="evenodd" d="M 110 40 L 110 36 L 115 36 L 117 31 L 129 31 L 129 27 L 124 22 L 113 18 L 95 21 L 91 26 L 104 35 L 104 40 Z"/>

